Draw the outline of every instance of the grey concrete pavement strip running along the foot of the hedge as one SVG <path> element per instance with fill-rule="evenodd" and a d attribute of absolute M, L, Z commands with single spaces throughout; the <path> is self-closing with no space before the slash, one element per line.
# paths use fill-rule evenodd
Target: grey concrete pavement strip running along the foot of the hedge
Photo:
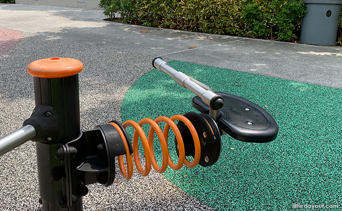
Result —
<path fill-rule="evenodd" d="M 2 5 L 0 27 L 44 39 L 163 56 L 208 66 L 342 87 L 342 47 L 189 33 L 104 21 L 101 10 Z M 140 31 L 149 30 L 148 33 Z M 188 49 L 196 45 L 197 48 Z"/>

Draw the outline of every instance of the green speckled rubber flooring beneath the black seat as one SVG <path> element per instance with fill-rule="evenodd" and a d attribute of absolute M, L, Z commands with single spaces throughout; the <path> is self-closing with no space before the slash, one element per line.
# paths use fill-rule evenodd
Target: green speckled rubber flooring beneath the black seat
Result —
<path fill-rule="evenodd" d="M 168 64 L 214 91 L 263 107 L 276 119 L 279 134 L 270 143 L 222 136 L 222 153 L 214 165 L 168 168 L 163 173 L 167 179 L 218 210 L 292 210 L 294 203 L 342 207 L 342 89 L 179 61 Z M 130 87 L 121 117 L 138 122 L 196 111 L 193 97 L 154 69 Z M 173 145 L 171 135 L 170 154 L 177 161 Z"/>

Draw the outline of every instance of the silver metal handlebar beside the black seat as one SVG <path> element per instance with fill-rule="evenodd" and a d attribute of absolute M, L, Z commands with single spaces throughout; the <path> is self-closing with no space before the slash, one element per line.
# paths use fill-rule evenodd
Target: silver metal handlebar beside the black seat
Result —
<path fill-rule="evenodd" d="M 210 104 L 210 100 L 217 96 L 210 87 L 193 78 L 179 72 L 172 67 L 168 66 L 166 62 L 161 58 L 156 58 L 153 63 L 154 67 L 160 71 L 165 72 L 167 75 L 174 78 L 174 80 L 184 88 L 188 88 L 191 92 L 198 95 L 203 102 L 207 105 Z"/>

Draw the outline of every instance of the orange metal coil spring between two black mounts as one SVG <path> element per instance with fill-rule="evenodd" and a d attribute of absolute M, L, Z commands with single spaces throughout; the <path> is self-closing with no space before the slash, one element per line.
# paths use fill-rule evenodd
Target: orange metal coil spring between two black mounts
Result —
<path fill-rule="evenodd" d="M 189 162 L 185 158 L 184 142 L 183 142 L 181 133 L 179 129 L 177 128 L 177 125 L 174 123 L 174 121 L 176 120 L 183 122 L 189 128 L 191 135 L 193 137 L 195 155 L 194 155 L 192 162 Z M 160 122 L 166 123 L 164 131 L 162 131 L 160 127 L 158 126 Z M 109 124 L 111 124 L 112 126 L 116 128 L 116 130 L 119 132 L 121 139 L 124 142 L 124 145 L 126 148 L 127 171 L 125 168 L 123 156 L 118 156 L 118 163 L 119 163 L 121 174 L 123 175 L 125 179 L 129 180 L 133 174 L 133 159 L 132 159 L 132 155 L 129 152 L 128 142 L 125 138 L 124 133 L 120 130 L 118 125 L 116 125 L 115 123 L 109 123 Z M 143 132 L 141 128 L 144 124 L 151 125 L 148 137 L 146 137 L 145 133 Z M 158 173 L 163 173 L 166 170 L 167 166 L 170 166 L 170 168 L 174 170 L 179 170 L 180 168 L 182 168 L 183 164 L 185 164 L 189 168 L 193 168 L 199 163 L 200 157 L 201 157 L 200 139 L 196 132 L 196 129 L 191 124 L 190 120 L 187 119 L 186 117 L 182 115 L 174 115 L 171 118 L 160 116 L 156 118 L 155 120 L 150 119 L 150 118 L 143 118 L 139 121 L 139 123 L 136 123 L 133 120 L 127 120 L 123 124 L 123 127 L 126 129 L 128 126 L 131 126 L 135 129 L 134 134 L 133 134 L 133 143 L 132 143 L 133 157 L 134 157 L 136 169 L 142 176 L 147 176 L 150 173 L 151 164 Z M 170 128 L 175 133 L 176 140 L 178 143 L 179 159 L 178 159 L 177 165 L 174 164 L 174 162 L 171 160 L 171 157 L 168 153 L 167 137 L 168 137 L 168 131 Z M 160 141 L 161 149 L 162 149 L 162 165 L 161 166 L 158 166 L 156 158 L 154 156 L 154 152 L 153 152 L 154 132 L 157 133 L 157 136 Z M 139 137 L 142 142 L 142 146 L 143 146 L 143 150 L 145 154 L 145 169 L 143 169 L 143 167 L 141 166 L 140 159 L 139 159 L 139 152 L 138 152 L 138 138 Z"/>

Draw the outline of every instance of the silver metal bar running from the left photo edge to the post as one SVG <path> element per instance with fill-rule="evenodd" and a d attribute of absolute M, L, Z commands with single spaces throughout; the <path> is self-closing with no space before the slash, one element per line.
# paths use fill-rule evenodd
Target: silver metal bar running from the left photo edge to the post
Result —
<path fill-rule="evenodd" d="M 7 136 L 0 138 L 0 156 L 10 152 L 15 147 L 27 142 L 36 136 L 36 130 L 32 125 L 26 125 Z"/>

